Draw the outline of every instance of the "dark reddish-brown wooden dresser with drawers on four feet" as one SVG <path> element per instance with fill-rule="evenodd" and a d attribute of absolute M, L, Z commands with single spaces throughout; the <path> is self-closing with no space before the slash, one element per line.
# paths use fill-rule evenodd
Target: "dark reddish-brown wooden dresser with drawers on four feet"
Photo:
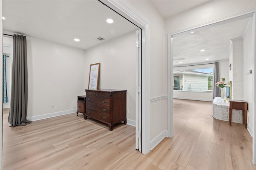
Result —
<path fill-rule="evenodd" d="M 124 121 L 126 124 L 126 90 L 85 90 L 86 112 L 84 119 L 92 119 L 106 123 L 109 130 L 113 125 Z"/>

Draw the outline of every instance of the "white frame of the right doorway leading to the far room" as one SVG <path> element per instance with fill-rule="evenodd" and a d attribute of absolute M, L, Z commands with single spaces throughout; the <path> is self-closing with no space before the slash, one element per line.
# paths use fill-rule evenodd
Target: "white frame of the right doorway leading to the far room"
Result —
<path fill-rule="evenodd" d="M 173 137 L 173 90 L 170 87 L 173 84 L 173 39 L 175 36 L 181 35 L 183 33 L 189 32 L 192 29 L 201 29 L 212 27 L 214 25 L 220 25 L 223 23 L 230 22 L 232 20 L 238 20 L 242 18 L 252 17 L 252 39 L 253 39 L 253 55 L 254 55 L 254 66 L 253 66 L 253 76 L 252 76 L 252 94 L 256 92 L 256 19 L 255 19 L 256 9 L 248 10 L 245 12 L 241 12 L 238 14 L 233 14 L 231 16 L 223 17 L 214 21 L 210 21 L 207 23 L 202 23 L 200 25 L 196 25 L 190 28 L 186 28 L 174 33 L 167 34 L 167 59 L 168 59 L 168 137 Z M 256 164 L 256 109 L 255 109 L 256 95 L 252 96 L 252 162 Z"/>

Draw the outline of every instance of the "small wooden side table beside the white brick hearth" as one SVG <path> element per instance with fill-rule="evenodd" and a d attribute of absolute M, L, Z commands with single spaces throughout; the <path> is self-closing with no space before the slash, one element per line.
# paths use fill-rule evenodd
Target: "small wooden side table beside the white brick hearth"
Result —
<path fill-rule="evenodd" d="M 247 129 L 247 102 L 244 100 L 229 100 L 229 124 L 232 122 L 232 109 L 243 111 L 243 124 Z"/>

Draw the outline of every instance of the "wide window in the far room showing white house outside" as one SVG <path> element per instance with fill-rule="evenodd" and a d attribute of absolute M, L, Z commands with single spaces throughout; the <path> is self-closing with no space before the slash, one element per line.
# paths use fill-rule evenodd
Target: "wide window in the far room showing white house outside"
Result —
<path fill-rule="evenodd" d="M 179 67 L 174 68 L 173 90 L 190 92 L 212 92 L 212 88 L 214 86 L 213 69 L 213 67 L 192 67 L 191 69 L 183 69 Z"/>

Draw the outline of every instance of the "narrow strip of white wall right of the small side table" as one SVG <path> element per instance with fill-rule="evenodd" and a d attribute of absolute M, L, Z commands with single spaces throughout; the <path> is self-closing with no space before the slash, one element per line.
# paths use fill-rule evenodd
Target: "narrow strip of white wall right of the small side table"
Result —
<path fill-rule="evenodd" d="M 248 27 L 243 37 L 243 100 L 248 102 L 248 131 L 252 135 L 252 82 L 253 74 L 249 71 L 253 70 L 253 39 L 252 39 L 252 23 Z M 254 94 L 255 95 L 255 94 Z"/>

